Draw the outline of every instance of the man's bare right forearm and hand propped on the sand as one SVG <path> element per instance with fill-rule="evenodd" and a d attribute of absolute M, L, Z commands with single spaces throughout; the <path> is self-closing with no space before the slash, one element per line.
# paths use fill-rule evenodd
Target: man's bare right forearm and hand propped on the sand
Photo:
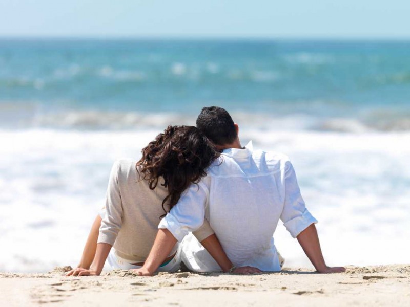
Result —
<path fill-rule="evenodd" d="M 297 236 L 300 246 L 302 247 L 306 256 L 311 260 L 316 271 L 319 273 L 341 273 L 346 271 L 343 267 L 327 267 L 322 250 L 320 248 L 319 237 L 317 235 L 315 224 L 311 224 L 308 228 L 304 229 Z"/>

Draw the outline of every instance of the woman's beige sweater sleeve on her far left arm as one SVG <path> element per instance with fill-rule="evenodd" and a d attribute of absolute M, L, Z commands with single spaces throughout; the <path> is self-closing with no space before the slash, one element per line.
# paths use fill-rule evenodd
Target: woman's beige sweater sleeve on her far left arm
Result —
<path fill-rule="evenodd" d="M 108 182 L 106 206 L 103 220 L 99 228 L 98 243 L 114 245 L 122 226 L 122 201 L 118 185 L 119 162 L 115 162 Z"/>

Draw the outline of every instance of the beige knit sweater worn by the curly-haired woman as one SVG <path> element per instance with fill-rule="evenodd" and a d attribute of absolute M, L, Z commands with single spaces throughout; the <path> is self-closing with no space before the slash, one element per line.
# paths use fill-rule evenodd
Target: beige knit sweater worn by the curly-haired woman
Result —
<path fill-rule="evenodd" d="M 111 169 L 98 243 L 113 245 L 121 258 L 143 262 L 154 243 L 160 216 L 165 213 L 161 204 L 167 189 L 159 182 L 151 190 L 148 181 L 140 179 L 136 163 L 135 160 L 121 159 Z M 213 233 L 205 221 L 194 235 L 201 242 Z"/>

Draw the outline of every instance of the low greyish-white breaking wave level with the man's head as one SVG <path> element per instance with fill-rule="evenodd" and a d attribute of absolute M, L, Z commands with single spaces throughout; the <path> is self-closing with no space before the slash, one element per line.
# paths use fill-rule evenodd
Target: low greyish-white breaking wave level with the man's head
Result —
<path fill-rule="evenodd" d="M 322 119 L 306 115 L 271 117 L 263 114 L 234 112 L 232 117 L 246 127 L 273 130 L 318 130 L 339 133 L 367 133 L 371 131 L 408 131 L 410 118 L 379 121 L 351 118 Z M 167 125 L 195 125 L 195 115 L 176 113 L 136 113 L 84 111 L 36 116 L 33 126 L 90 129 L 133 129 L 165 127 Z"/>

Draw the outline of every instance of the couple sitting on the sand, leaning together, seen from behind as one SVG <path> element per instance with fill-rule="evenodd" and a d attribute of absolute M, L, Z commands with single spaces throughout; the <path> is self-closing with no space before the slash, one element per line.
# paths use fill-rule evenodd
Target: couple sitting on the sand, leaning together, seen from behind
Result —
<path fill-rule="evenodd" d="M 106 260 L 142 276 L 177 271 L 181 260 L 197 272 L 279 271 L 279 218 L 318 272 L 344 272 L 326 266 L 286 156 L 242 147 L 223 108 L 203 108 L 196 125 L 170 126 L 138 162 L 114 164 L 106 206 L 67 275 L 99 275 Z"/>

